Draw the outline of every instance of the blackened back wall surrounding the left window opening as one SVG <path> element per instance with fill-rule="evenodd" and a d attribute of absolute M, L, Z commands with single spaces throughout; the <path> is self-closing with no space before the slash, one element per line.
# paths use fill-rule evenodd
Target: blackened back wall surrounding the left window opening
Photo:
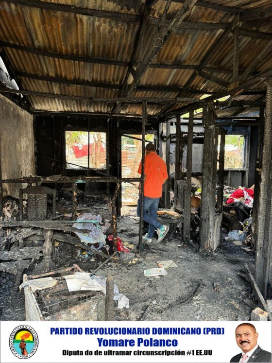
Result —
<path fill-rule="evenodd" d="M 67 176 L 87 175 L 84 169 L 66 169 L 65 167 L 65 131 L 99 131 L 107 135 L 107 165 L 108 173 L 114 176 L 121 175 L 120 147 L 122 133 L 141 133 L 140 120 L 121 120 L 108 118 L 88 117 L 57 117 L 36 116 L 34 119 L 35 140 L 37 143 L 37 175 L 48 176 L 63 174 Z M 157 124 L 148 124 L 147 132 L 154 131 Z M 106 173 L 107 170 L 100 170 Z M 89 171 L 89 175 L 98 175 L 95 171 Z M 58 188 L 62 186 L 59 185 Z M 78 184 L 78 188 L 80 186 Z M 114 183 L 110 183 L 110 191 L 115 189 Z M 107 191 L 106 183 L 89 183 L 88 194 L 99 195 Z"/>

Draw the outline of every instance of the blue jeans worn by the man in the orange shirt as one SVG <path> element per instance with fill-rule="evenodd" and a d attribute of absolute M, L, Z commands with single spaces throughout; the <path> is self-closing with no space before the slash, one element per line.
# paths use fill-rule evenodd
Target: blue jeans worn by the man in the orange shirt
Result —
<path fill-rule="evenodd" d="M 156 228 L 162 227 L 162 224 L 157 220 L 157 210 L 160 198 L 150 198 L 144 196 L 143 220 L 149 223 L 147 238 L 153 238 Z M 140 198 L 137 204 L 137 216 L 140 216 Z"/>

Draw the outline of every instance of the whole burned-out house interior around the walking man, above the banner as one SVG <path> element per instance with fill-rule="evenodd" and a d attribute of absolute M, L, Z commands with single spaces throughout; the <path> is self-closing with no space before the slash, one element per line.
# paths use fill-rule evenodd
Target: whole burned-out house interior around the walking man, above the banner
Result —
<path fill-rule="evenodd" d="M 272 320 L 271 0 L 1 0 L 0 156 L 1 320 Z"/>

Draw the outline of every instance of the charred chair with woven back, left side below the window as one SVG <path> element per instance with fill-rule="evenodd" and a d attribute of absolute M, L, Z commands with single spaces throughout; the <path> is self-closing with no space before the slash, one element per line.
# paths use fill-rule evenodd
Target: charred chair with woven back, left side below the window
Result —
<path fill-rule="evenodd" d="M 53 197 L 52 218 L 56 210 L 56 190 L 48 187 L 27 187 L 19 192 L 19 218 L 23 220 L 23 194 L 28 195 L 28 221 L 44 221 L 47 219 L 47 195 Z"/>

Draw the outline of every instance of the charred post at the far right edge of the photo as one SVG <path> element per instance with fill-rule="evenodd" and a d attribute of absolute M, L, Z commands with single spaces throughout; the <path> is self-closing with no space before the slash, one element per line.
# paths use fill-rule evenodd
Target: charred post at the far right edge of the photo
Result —
<path fill-rule="evenodd" d="M 267 81 L 266 112 L 262 149 L 261 183 L 258 202 L 256 238 L 255 280 L 264 298 L 271 282 L 272 224 L 272 78 Z"/>

